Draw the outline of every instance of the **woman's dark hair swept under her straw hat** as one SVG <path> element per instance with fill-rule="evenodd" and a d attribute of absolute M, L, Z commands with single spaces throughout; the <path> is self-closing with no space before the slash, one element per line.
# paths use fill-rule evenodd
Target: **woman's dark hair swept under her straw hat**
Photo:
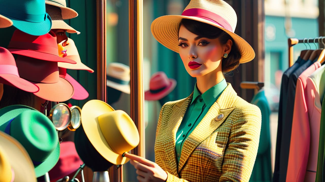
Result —
<path fill-rule="evenodd" d="M 203 23 L 192 19 L 186 19 L 186 18 L 183 18 L 181 20 L 179 27 L 181 25 L 184 25 L 184 27 L 188 29 L 188 31 L 198 36 L 203 36 L 208 39 L 219 38 L 220 43 L 222 45 L 225 45 L 227 41 L 230 39 L 232 41 L 232 46 L 228 54 L 228 57 L 222 59 L 222 63 L 221 63 L 222 72 L 224 73 L 230 72 L 239 66 L 239 60 L 241 55 L 238 46 L 236 45 L 235 41 L 227 32 L 223 31 L 220 28 L 209 25 L 207 23 Z"/>

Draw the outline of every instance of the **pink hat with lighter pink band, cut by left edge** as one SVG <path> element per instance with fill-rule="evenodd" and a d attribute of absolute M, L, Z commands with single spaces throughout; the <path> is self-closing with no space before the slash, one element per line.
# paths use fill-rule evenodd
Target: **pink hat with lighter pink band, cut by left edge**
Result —
<path fill-rule="evenodd" d="M 38 86 L 20 78 L 14 56 L 0 47 L 0 83 L 17 87 L 26 92 L 37 92 Z"/>

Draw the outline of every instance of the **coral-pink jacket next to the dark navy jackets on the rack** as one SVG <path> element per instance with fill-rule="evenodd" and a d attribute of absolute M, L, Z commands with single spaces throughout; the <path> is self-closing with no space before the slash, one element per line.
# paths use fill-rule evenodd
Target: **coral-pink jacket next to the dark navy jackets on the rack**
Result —
<path fill-rule="evenodd" d="M 321 64 L 315 62 L 309 66 L 302 74 L 300 74 L 297 80 L 296 95 L 294 98 L 293 118 L 292 118 L 292 130 L 291 130 L 291 141 L 287 168 L 286 181 L 300 182 L 305 180 L 305 175 L 309 179 L 306 181 L 315 181 L 316 168 L 317 168 L 317 157 L 318 157 L 318 138 L 316 140 L 317 146 L 311 146 L 314 141 L 311 141 L 311 132 L 315 131 L 313 126 L 309 124 L 308 108 L 306 100 L 308 97 L 306 92 L 307 77 L 310 76 Z M 314 136 L 314 135 L 313 135 Z M 312 136 L 312 137 L 313 137 Z M 319 136 L 319 125 L 318 125 L 318 136 Z M 310 150 L 310 148 L 312 150 Z M 314 155 L 314 150 L 316 150 Z M 311 154 L 311 155 L 310 155 Z M 310 156 L 309 156 L 310 155 Z M 313 156 L 314 155 L 314 156 Z M 314 162 L 316 160 L 316 163 Z M 314 164 L 316 164 L 314 166 Z M 306 173 L 306 170 L 315 170 L 315 175 Z M 311 179 L 314 176 L 313 179 Z"/>

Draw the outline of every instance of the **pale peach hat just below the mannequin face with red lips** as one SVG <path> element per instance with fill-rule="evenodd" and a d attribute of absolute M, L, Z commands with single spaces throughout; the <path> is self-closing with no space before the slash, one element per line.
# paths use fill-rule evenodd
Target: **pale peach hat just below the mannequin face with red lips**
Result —
<path fill-rule="evenodd" d="M 89 73 L 94 73 L 93 69 L 89 68 L 88 66 L 86 66 L 84 63 L 81 62 L 79 52 L 74 41 L 68 38 L 68 43 L 69 45 L 63 47 L 62 42 L 60 42 L 58 44 L 59 51 L 66 49 L 67 56 L 65 56 L 65 58 L 71 59 L 77 63 L 76 64 L 58 63 L 59 67 L 71 69 L 71 70 L 87 70 Z"/>

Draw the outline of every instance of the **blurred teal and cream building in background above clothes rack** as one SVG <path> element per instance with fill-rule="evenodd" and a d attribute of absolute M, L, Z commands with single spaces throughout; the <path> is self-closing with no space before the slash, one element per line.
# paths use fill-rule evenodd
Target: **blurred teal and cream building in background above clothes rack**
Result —
<path fill-rule="evenodd" d="M 318 37 L 318 0 L 265 0 L 264 7 L 266 97 L 272 111 L 277 111 L 280 73 L 289 65 L 288 38 Z M 310 47 L 315 49 L 314 44 L 310 44 Z M 304 49 L 304 44 L 294 46 L 294 60 Z"/>

